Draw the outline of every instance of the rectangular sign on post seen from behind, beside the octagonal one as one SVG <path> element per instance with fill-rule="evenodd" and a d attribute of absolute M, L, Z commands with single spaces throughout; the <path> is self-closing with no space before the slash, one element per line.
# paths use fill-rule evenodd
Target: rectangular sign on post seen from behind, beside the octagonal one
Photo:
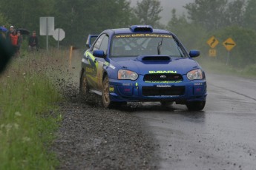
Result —
<path fill-rule="evenodd" d="M 46 50 L 49 49 L 48 36 L 53 35 L 54 17 L 40 17 L 40 35 L 46 35 Z"/>

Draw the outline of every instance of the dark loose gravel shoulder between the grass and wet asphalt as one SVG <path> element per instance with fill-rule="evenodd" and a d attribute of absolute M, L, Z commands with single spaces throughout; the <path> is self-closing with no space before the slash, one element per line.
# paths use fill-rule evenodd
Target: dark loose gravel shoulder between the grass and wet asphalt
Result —
<path fill-rule="evenodd" d="M 157 169 L 157 144 L 133 113 L 134 104 L 105 109 L 101 98 L 83 98 L 76 86 L 62 88 L 63 120 L 53 143 L 57 169 Z"/>

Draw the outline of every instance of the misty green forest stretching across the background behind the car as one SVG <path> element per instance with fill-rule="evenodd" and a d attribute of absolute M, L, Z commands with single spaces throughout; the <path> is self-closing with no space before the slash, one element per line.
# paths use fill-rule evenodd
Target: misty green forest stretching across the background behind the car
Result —
<path fill-rule="evenodd" d="M 171 2 L 170 2 L 171 3 Z M 256 1 L 255 0 L 194 0 L 184 6 L 186 13 L 178 16 L 170 9 L 168 24 L 160 23 L 163 10 L 160 0 L 140 0 L 131 6 L 128 0 L 0 0 L 0 24 L 22 27 L 39 33 L 39 18 L 52 16 L 55 28 L 65 30 L 61 47 L 85 48 L 88 34 L 99 34 L 108 28 L 150 24 L 170 30 L 190 49 L 200 50 L 209 57 L 209 44 L 214 36 L 218 61 L 225 62 L 228 51 L 223 41 L 232 38 L 236 46 L 230 50 L 230 64 L 243 68 L 256 64 Z M 38 34 L 39 35 L 39 34 Z M 45 36 L 40 36 L 45 48 Z M 50 38 L 51 47 L 56 41 Z"/>

